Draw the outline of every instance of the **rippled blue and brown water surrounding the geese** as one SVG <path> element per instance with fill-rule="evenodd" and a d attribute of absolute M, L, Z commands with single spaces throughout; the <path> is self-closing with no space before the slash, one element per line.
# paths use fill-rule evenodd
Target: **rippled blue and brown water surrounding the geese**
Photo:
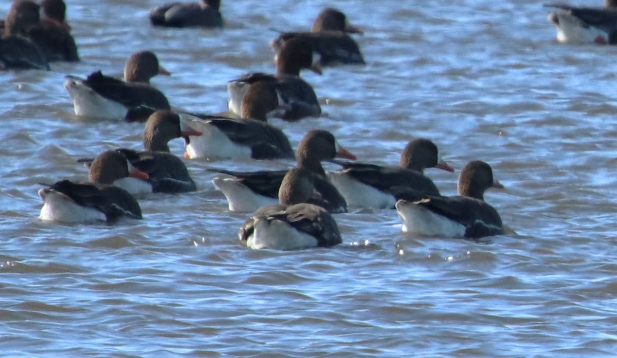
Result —
<path fill-rule="evenodd" d="M 327 116 L 273 123 L 294 145 L 328 129 L 372 163 L 420 136 L 457 169 L 487 161 L 507 190 L 486 200 L 512 233 L 486 242 L 413 237 L 393 210 L 356 210 L 335 216 L 333 249 L 246 250 L 247 215 L 204 169 L 289 165 L 276 161 L 188 161 L 199 191 L 141 200 L 141 222 L 39 221 L 38 182 L 86 179 L 77 158 L 141 147 L 142 124 L 77 118 L 64 75 L 121 75 L 151 49 L 173 72 L 154 79 L 172 105 L 220 112 L 229 79 L 273 71 L 276 30 L 333 5 L 223 0 L 225 30 L 202 31 L 151 28 L 157 4 L 69 0 L 83 61 L 0 73 L 3 356 L 614 355 L 617 47 L 555 43 L 539 1 L 334 4 L 365 30 L 368 65 L 306 73 Z M 455 193 L 456 175 L 427 174 Z"/>

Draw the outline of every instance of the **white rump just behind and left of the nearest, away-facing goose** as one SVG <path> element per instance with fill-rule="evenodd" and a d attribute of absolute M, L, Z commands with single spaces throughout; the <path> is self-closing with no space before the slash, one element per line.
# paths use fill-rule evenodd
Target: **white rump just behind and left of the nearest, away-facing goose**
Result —
<path fill-rule="evenodd" d="M 278 203 L 278 198 L 265 197 L 255 193 L 235 178 L 215 177 L 212 183 L 223 192 L 231 211 L 252 213 L 262 206 Z"/>

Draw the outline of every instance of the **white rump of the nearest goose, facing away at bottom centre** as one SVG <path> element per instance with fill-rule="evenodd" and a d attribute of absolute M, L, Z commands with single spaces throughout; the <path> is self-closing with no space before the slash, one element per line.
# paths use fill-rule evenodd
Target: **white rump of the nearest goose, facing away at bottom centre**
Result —
<path fill-rule="evenodd" d="M 300 232 L 280 220 L 259 218 L 254 222 L 253 234 L 247 239 L 249 248 L 298 250 L 317 246 L 317 239 Z"/>

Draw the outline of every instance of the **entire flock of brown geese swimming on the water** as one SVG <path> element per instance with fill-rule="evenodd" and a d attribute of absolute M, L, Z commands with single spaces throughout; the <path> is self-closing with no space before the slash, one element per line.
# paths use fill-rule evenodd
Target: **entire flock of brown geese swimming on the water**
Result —
<path fill-rule="evenodd" d="M 154 26 L 220 28 L 219 0 L 173 3 L 151 11 Z M 558 41 L 615 43 L 617 1 L 605 8 L 577 8 L 551 4 L 549 20 L 558 26 Z M 48 70 L 49 62 L 78 61 L 71 28 L 65 21 L 63 0 L 15 0 L 2 22 L 0 68 Z M 41 15 L 42 13 L 42 15 Z M 64 179 L 39 190 L 43 208 L 39 218 L 55 222 L 141 219 L 134 195 L 197 190 L 183 159 L 170 153 L 168 141 L 184 138 L 184 159 L 296 158 L 291 170 L 221 173 L 213 184 L 228 200 L 229 210 L 253 212 L 238 232 L 250 248 L 292 250 L 333 246 L 342 242 L 333 213 L 347 208 L 392 208 L 402 230 L 420 235 L 479 238 L 503 234 L 502 220 L 484 201 L 484 192 L 503 188 L 491 166 L 471 161 L 460 172 L 458 196 L 445 197 L 424 176 L 426 168 L 454 171 L 428 139 L 408 143 L 397 166 L 358 163 L 328 131 L 309 131 L 296 151 L 268 117 L 298 121 L 321 115 L 312 86 L 300 71 L 321 73 L 333 65 L 365 63 L 350 36 L 362 31 L 339 10 L 318 14 L 311 31 L 283 33 L 271 41 L 276 73 L 251 73 L 228 84 L 228 116 L 174 110 L 167 97 L 150 84 L 156 75 L 169 75 L 150 51 L 132 54 L 124 80 L 101 71 L 87 78 L 67 76 L 64 83 L 78 116 L 144 121 L 144 150 L 118 148 L 84 159 L 89 181 Z M 344 160 L 341 160 L 344 159 Z M 352 161 L 349 161 L 352 160 Z M 322 161 L 341 169 L 326 173 Z"/>

